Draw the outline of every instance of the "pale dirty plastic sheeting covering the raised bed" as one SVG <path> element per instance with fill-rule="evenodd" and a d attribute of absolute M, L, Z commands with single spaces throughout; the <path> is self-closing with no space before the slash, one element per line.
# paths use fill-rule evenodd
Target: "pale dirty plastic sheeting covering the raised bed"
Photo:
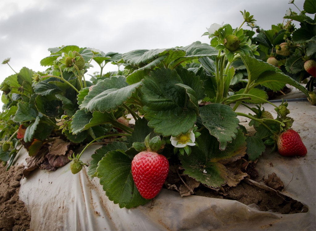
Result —
<path fill-rule="evenodd" d="M 279 105 L 280 103 L 275 103 Z M 265 110 L 274 116 L 272 105 Z M 280 214 L 263 212 L 254 204 L 234 200 L 191 195 L 162 189 L 144 206 L 119 208 L 105 196 L 99 179 L 90 180 L 83 169 L 70 172 L 69 164 L 55 172 L 36 170 L 21 180 L 20 199 L 31 215 L 32 230 L 315 230 L 315 106 L 309 102 L 289 102 L 292 126 L 307 147 L 305 157 L 282 157 L 267 150 L 256 169 L 260 175 L 275 172 L 287 187 L 282 192 L 307 205 L 307 213 Z M 240 112 L 248 109 L 240 107 Z M 248 122 L 245 117 L 240 121 Z M 90 146 L 81 159 L 87 163 L 100 146 Z M 26 151 L 21 151 L 18 163 L 24 163 Z M 271 168 L 270 163 L 273 163 Z"/>

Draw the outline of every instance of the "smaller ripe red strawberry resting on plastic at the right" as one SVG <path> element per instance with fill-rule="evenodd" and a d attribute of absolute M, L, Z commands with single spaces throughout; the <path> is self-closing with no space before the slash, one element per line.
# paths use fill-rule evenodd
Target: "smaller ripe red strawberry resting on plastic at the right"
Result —
<path fill-rule="evenodd" d="M 300 135 L 292 129 L 281 133 L 277 140 L 278 152 L 281 156 L 305 156 L 307 149 Z"/>

